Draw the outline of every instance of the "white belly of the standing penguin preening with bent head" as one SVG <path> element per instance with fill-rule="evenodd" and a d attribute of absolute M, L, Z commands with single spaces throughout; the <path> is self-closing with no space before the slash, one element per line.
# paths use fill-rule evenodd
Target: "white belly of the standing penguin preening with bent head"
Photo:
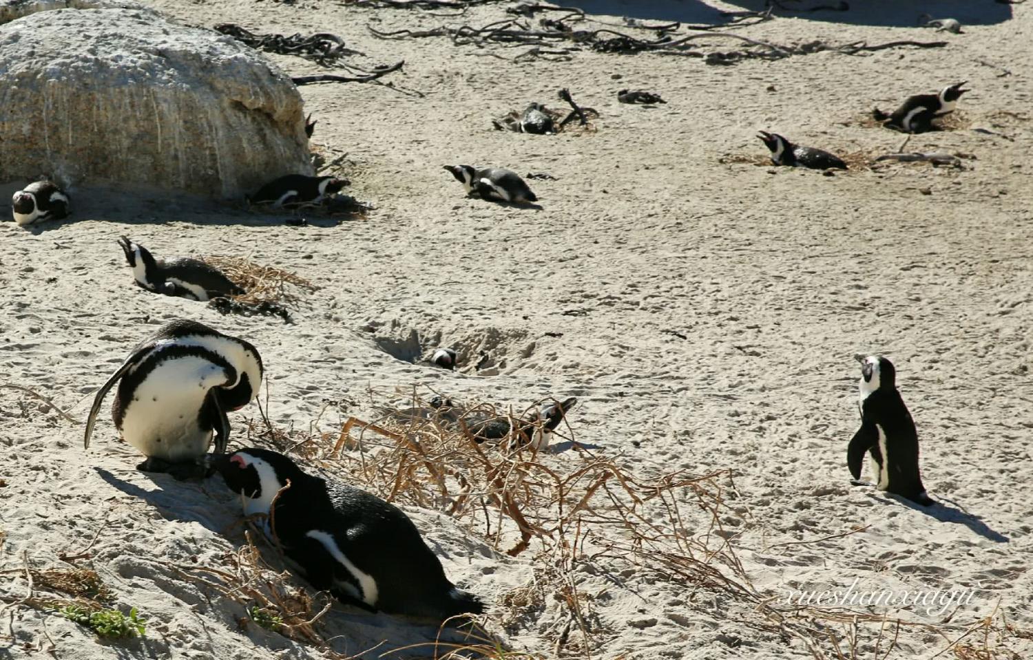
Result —
<path fill-rule="evenodd" d="M 159 365 L 132 392 L 122 416 L 122 437 L 144 455 L 180 462 L 202 455 L 211 430 L 197 425 L 209 389 L 226 382 L 224 370 L 204 357 Z"/>

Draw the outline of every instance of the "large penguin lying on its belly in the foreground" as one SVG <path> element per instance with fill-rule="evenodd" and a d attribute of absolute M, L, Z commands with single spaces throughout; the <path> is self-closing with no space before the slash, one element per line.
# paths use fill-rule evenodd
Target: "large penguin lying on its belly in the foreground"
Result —
<path fill-rule="evenodd" d="M 480 599 L 448 580 L 397 506 L 307 474 L 269 449 L 241 449 L 213 463 L 241 495 L 244 514 L 267 514 L 265 533 L 313 587 L 342 603 L 435 623 L 483 612 Z"/>

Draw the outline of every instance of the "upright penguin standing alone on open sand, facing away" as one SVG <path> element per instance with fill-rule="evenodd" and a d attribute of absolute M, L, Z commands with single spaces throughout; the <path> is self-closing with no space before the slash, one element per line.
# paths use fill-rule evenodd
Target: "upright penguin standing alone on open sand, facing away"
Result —
<path fill-rule="evenodd" d="M 854 481 L 868 451 L 876 488 L 921 506 L 935 502 L 926 494 L 918 473 L 918 433 L 900 391 L 897 370 L 881 355 L 854 355 L 860 363 L 860 429 L 847 448 L 847 466 Z"/>

